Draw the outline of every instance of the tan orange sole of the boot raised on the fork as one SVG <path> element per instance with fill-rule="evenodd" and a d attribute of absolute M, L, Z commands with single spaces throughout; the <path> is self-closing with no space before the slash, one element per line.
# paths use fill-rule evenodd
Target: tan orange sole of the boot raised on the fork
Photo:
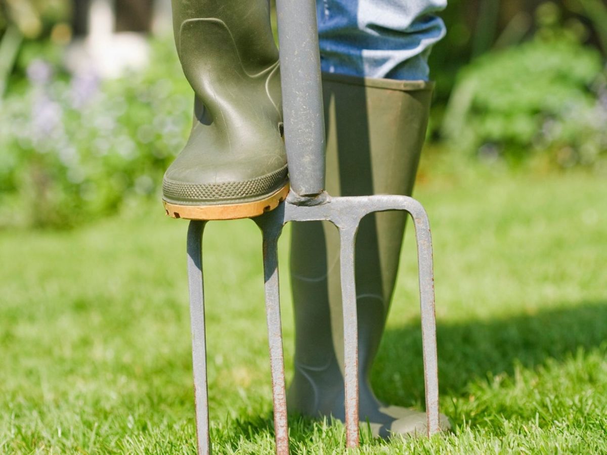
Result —
<path fill-rule="evenodd" d="M 258 217 L 278 207 L 289 192 L 289 184 L 285 184 L 271 195 L 259 200 L 239 204 L 214 204 L 207 206 L 185 206 L 162 201 L 164 211 L 171 218 L 185 220 L 237 220 L 239 218 Z"/>

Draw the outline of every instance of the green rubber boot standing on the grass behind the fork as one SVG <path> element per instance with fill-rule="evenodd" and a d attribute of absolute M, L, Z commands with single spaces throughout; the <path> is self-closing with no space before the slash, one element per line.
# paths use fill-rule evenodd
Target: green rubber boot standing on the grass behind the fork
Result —
<path fill-rule="evenodd" d="M 323 76 L 327 190 L 337 196 L 410 195 L 426 133 L 431 84 Z M 426 433 L 426 414 L 386 406 L 369 372 L 385 328 L 398 271 L 404 212 L 365 217 L 356 237 L 361 425 L 375 436 Z M 295 374 L 290 411 L 344 420 L 344 345 L 339 235 L 330 223 L 293 223 L 291 286 Z M 441 426 L 449 425 L 441 415 Z"/>

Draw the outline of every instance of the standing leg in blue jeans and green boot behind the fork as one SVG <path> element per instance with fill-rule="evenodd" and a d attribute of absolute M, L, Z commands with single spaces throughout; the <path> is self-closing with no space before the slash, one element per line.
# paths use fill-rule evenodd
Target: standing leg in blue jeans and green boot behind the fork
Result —
<path fill-rule="evenodd" d="M 327 190 L 331 195 L 410 195 L 426 133 L 431 85 L 356 76 L 427 79 L 429 45 L 443 36 L 444 26 L 433 16 L 410 17 L 411 5 L 402 2 L 401 14 L 392 10 L 388 17 L 382 16 L 382 2 L 373 2 L 379 10 L 375 15 L 365 13 L 362 21 L 361 7 L 367 11 L 371 6 L 370 1 L 365 3 L 357 10 L 352 9 L 356 2 L 317 2 L 323 68 L 351 75 L 324 75 Z M 426 5 L 415 11 L 436 8 Z M 396 24 L 404 25 L 400 31 L 388 28 Z M 425 426 L 425 414 L 380 403 L 368 377 L 392 299 L 405 219 L 402 212 L 367 217 L 356 239 L 360 416 L 381 436 L 423 431 Z M 294 224 L 291 284 L 296 353 L 290 409 L 344 419 L 339 236 L 333 226 Z M 448 425 L 444 417 L 441 423 L 443 428 Z"/>

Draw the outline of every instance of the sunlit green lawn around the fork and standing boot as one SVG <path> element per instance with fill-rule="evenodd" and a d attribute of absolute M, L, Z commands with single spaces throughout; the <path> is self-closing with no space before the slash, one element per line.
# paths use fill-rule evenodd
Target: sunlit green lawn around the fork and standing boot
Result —
<path fill-rule="evenodd" d="M 605 177 L 497 172 L 426 181 L 416 197 L 433 227 L 441 410 L 454 429 L 365 438 L 361 453 L 607 452 Z M 76 231 L 0 232 L 0 453 L 194 452 L 186 227 L 157 205 Z M 407 235 L 373 384 L 422 408 L 414 251 Z M 204 258 L 215 449 L 271 453 L 257 228 L 209 224 Z M 342 451 L 341 426 L 290 423 L 294 453 Z"/>

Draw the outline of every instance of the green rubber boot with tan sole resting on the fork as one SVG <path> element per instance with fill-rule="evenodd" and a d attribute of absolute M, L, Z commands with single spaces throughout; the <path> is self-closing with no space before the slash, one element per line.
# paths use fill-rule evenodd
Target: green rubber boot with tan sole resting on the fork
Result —
<path fill-rule="evenodd" d="M 267 0 L 173 0 L 175 44 L 194 89 L 188 143 L 164 174 L 176 218 L 259 215 L 288 192 L 278 50 Z"/>

